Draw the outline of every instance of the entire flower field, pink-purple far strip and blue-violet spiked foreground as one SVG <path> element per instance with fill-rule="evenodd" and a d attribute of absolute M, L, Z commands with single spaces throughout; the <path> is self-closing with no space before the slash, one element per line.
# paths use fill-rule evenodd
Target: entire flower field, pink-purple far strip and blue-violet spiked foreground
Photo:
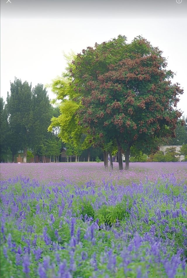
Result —
<path fill-rule="evenodd" d="M 187 277 L 187 163 L 1 164 L 1 277 Z"/>

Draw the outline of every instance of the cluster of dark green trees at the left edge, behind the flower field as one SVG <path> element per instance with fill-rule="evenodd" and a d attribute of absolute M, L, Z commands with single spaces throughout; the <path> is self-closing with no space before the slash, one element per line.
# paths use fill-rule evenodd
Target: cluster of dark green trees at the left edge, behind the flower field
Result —
<path fill-rule="evenodd" d="M 11 153 L 14 162 L 17 152 L 23 150 L 23 162 L 26 162 L 27 154 L 42 156 L 46 146 L 48 152 L 55 154 L 61 140 L 59 142 L 57 134 L 49 133 L 47 128 L 51 118 L 59 116 L 59 109 L 51 105 L 46 88 L 42 84 L 32 88 L 27 81 L 17 78 L 10 85 L 6 104 L 0 98 L 1 161 Z"/>

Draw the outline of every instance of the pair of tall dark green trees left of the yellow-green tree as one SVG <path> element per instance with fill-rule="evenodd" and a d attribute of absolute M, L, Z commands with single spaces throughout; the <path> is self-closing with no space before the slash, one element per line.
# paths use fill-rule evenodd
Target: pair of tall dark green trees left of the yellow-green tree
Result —
<path fill-rule="evenodd" d="M 53 107 L 46 89 L 42 84 L 32 89 L 27 81 L 22 83 L 15 78 L 11 83 L 11 93 L 7 96 L 7 113 L 12 160 L 14 162 L 18 150 L 23 150 L 23 162 L 26 163 L 28 148 L 34 150 L 36 155 L 38 146 L 49 138 L 47 128 L 53 116 Z"/>

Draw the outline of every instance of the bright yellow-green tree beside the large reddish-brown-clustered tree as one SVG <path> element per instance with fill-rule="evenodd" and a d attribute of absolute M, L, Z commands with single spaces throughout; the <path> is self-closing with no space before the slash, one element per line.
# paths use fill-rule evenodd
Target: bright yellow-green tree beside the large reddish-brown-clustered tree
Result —
<path fill-rule="evenodd" d="M 52 117 L 48 131 L 52 133 L 59 131 L 58 137 L 71 145 L 72 155 L 75 154 L 77 157 L 81 150 L 82 135 L 84 134 L 84 128 L 79 125 L 79 116 L 76 114 L 80 104 L 74 101 L 74 99 L 80 98 L 80 94 L 73 90 L 71 78 L 68 79 L 64 76 L 54 79 L 49 86 L 56 94 L 56 100 L 61 100 L 61 103 L 58 106 L 60 115 Z M 85 145 L 86 143 L 87 145 Z M 84 145 L 86 148 L 89 147 L 87 141 Z"/>

